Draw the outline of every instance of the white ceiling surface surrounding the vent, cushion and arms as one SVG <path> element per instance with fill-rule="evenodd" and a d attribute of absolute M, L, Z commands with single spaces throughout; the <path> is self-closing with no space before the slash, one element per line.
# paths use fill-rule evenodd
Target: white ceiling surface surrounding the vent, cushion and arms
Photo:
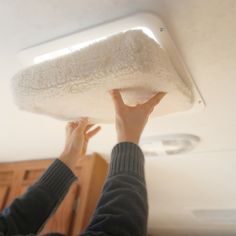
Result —
<path fill-rule="evenodd" d="M 9 89 L 20 50 L 140 10 L 166 23 L 205 102 L 201 112 L 149 122 L 143 136 L 191 133 L 193 153 L 146 159 L 152 235 L 236 235 L 232 222 L 195 218 L 196 209 L 236 209 L 235 0 L 0 1 L 0 161 L 55 157 L 65 123 L 19 111 Z M 115 128 L 103 125 L 89 146 L 109 156 Z"/>

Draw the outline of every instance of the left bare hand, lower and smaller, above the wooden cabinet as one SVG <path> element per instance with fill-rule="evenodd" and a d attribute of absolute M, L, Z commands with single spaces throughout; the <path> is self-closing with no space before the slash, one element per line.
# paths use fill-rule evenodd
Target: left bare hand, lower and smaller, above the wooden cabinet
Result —
<path fill-rule="evenodd" d="M 89 131 L 94 124 L 89 124 L 87 118 L 82 118 L 78 122 L 69 122 L 66 126 L 66 142 L 64 150 L 60 156 L 68 167 L 73 169 L 79 158 L 86 155 L 89 139 L 101 129 L 100 126 Z"/>

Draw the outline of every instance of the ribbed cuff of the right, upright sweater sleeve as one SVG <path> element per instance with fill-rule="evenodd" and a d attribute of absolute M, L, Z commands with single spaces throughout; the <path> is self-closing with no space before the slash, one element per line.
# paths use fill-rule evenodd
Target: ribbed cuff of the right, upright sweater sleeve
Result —
<path fill-rule="evenodd" d="M 131 142 L 118 143 L 112 150 L 109 176 L 129 172 L 144 178 L 144 155 L 141 148 Z"/>

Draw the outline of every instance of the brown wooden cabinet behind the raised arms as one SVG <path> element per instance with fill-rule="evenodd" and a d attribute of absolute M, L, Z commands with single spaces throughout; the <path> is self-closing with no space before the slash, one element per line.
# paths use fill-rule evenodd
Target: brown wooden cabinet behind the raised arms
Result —
<path fill-rule="evenodd" d="M 53 160 L 22 161 L 0 164 L 0 209 L 24 193 Z M 97 153 L 79 160 L 78 180 L 46 223 L 40 234 L 49 232 L 78 235 L 88 225 L 99 199 L 108 164 Z"/>

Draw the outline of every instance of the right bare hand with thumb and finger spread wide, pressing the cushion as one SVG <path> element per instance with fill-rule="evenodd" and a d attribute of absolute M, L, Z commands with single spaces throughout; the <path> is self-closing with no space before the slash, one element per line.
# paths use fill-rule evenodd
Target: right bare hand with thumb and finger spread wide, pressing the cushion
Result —
<path fill-rule="evenodd" d="M 115 105 L 118 142 L 138 144 L 149 115 L 166 93 L 157 93 L 145 103 L 131 107 L 124 104 L 118 89 L 109 92 Z"/>

